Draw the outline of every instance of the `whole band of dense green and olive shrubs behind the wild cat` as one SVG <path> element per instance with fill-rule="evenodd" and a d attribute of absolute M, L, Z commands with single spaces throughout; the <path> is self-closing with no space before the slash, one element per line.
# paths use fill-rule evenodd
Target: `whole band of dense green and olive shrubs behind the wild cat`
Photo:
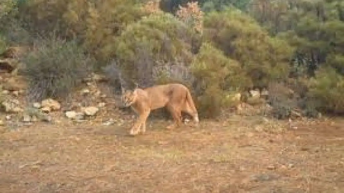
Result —
<path fill-rule="evenodd" d="M 252 88 L 270 89 L 280 118 L 344 112 L 341 0 L 5 0 L 0 19 L 0 51 L 29 45 L 24 74 L 63 85 L 39 96 L 63 97 L 85 69 L 116 61 L 128 87 L 190 86 L 207 117 Z"/>

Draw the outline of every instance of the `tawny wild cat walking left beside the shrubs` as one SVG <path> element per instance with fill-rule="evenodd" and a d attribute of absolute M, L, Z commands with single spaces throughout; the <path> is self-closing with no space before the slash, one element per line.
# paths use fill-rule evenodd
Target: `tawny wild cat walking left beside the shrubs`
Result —
<path fill-rule="evenodd" d="M 198 113 L 192 100 L 190 91 L 182 84 L 165 84 L 148 88 L 136 88 L 125 91 L 122 95 L 125 106 L 131 106 L 139 115 L 130 130 L 131 135 L 146 132 L 146 121 L 151 110 L 167 107 L 172 114 L 174 125 L 179 126 L 181 112 L 189 113 L 196 123 Z M 173 126 L 169 126 L 170 128 Z M 141 128 L 141 129 L 140 129 Z"/>

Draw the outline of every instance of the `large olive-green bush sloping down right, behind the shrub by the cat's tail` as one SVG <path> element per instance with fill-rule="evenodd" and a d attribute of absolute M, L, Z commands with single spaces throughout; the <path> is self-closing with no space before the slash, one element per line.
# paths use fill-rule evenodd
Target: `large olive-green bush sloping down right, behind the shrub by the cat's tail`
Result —
<path fill-rule="evenodd" d="M 229 7 L 208 13 L 204 19 L 205 37 L 240 62 L 252 86 L 267 87 L 271 81 L 285 80 L 293 49 L 284 40 L 271 38 L 245 13 Z"/>

